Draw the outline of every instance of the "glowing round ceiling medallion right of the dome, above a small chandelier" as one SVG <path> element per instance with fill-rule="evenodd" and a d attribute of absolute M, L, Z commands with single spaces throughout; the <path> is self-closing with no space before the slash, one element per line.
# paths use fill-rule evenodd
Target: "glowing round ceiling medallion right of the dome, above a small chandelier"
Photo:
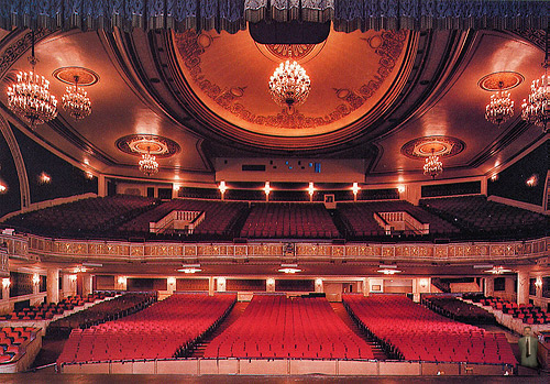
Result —
<path fill-rule="evenodd" d="M 464 151 L 466 144 L 451 136 L 417 138 L 402 146 L 402 154 L 409 158 L 424 160 L 430 155 L 452 157 Z"/>

